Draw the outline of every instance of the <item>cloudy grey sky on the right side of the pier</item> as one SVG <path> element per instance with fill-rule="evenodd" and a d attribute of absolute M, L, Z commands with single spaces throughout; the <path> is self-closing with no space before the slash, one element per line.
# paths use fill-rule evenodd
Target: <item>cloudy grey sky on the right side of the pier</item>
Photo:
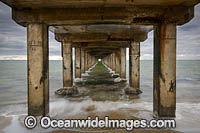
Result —
<path fill-rule="evenodd" d="M 141 43 L 141 59 L 153 56 L 153 32 Z M 177 26 L 177 59 L 199 60 L 200 55 L 200 4 L 195 7 L 195 16 L 187 24 Z"/>

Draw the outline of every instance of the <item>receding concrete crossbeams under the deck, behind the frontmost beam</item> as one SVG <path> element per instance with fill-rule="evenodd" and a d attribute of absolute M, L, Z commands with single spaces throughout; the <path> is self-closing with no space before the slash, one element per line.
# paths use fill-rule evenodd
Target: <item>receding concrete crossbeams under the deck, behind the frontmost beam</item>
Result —
<path fill-rule="evenodd" d="M 120 47 L 129 47 L 131 40 L 144 41 L 152 26 L 93 24 L 78 26 L 55 26 L 51 31 L 55 39 L 65 38 L 73 42 L 74 47 L 81 47 L 96 58 L 104 58 Z M 111 67 L 111 59 L 109 59 Z M 122 63 L 123 64 L 123 63 Z M 125 76 L 123 76 L 125 77 Z"/>

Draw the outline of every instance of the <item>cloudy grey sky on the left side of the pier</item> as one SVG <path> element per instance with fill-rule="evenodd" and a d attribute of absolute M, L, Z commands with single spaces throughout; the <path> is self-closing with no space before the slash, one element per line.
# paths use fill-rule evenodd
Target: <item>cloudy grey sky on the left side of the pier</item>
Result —
<path fill-rule="evenodd" d="M 11 8 L 0 2 L 0 60 L 26 59 L 26 28 L 16 24 L 11 16 Z M 49 32 L 50 58 L 59 57 L 60 50 L 60 43 L 55 41 L 53 33 Z"/>

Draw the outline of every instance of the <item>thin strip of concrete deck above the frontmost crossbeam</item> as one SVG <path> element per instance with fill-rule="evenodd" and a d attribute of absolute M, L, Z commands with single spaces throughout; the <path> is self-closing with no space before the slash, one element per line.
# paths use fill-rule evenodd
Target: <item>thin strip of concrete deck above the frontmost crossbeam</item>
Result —
<path fill-rule="evenodd" d="M 192 6 L 198 3 L 198 0 L 134 0 L 134 1 L 125 1 L 125 0 L 1 0 L 4 3 L 12 7 L 38 9 L 38 8 L 71 8 L 71 7 L 103 7 L 103 6 Z"/>

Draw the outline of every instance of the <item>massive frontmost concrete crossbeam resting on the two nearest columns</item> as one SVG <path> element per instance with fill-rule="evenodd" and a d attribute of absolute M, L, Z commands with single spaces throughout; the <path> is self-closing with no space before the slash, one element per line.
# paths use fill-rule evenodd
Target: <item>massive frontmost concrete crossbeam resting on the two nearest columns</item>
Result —
<path fill-rule="evenodd" d="M 193 0 L 196 1 L 196 0 Z M 192 0 L 191 0 L 192 2 Z M 198 1 L 199 2 L 199 1 Z M 58 2 L 56 2 L 58 3 Z M 150 2 L 149 2 L 150 3 Z M 197 3 L 197 2 L 196 2 Z M 17 2 L 16 2 L 17 4 Z M 31 4 L 31 2 L 30 2 Z M 153 24 L 160 21 L 184 24 L 194 16 L 194 5 L 190 6 L 119 6 L 91 8 L 40 8 L 33 6 L 12 8 L 12 18 L 21 25 L 43 22 L 48 25 L 87 25 L 97 23 Z M 78 7 L 78 5 L 77 5 Z"/>

